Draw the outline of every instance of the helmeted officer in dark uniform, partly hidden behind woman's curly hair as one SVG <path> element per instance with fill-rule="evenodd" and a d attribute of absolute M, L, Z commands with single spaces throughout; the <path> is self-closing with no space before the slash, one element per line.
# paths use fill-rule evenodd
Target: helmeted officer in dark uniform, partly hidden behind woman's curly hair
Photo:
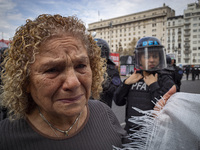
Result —
<path fill-rule="evenodd" d="M 102 85 L 103 91 L 100 94 L 100 101 L 106 103 L 109 107 L 112 107 L 114 92 L 121 84 L 119 71 L 115 63 L 110 59 L 110 48 L 108 43 L 105 40 L 99 38 L 95 38 L 94 40 L 101 48 L 101 57 L 105 58 L 107 63 L 107 76 L 105 76 L 105 82 Z"/>

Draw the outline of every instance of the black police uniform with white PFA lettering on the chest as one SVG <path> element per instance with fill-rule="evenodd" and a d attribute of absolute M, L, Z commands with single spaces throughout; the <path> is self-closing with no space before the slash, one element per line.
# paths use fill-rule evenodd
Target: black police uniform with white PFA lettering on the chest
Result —
<path fill-rule="evenodd" d="M 125 130 L 131 133 L 129 129 L 137 126 L 128 121 L 131 116 L 142 115 L 132 107 L 137 107 L 141 110 L 153 109 L 153 102 L 156 102 L 156 98 L 160 99 L 173 85 L 172 78 L 166 74 L 158 74 L 158 81 L 150 86 L 146 85 L 143 79 L 132 85 L 121 83 L 115 92 L 114 101 L 118 106 L 126 105 Z"/>

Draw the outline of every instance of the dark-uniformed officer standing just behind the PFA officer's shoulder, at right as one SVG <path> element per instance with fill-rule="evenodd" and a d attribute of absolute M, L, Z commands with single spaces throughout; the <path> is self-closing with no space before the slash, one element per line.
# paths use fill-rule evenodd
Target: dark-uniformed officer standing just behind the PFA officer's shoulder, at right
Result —
<path fill-rule="evenodd" d="M 174 70 L 175 70 L 174 82 L 177 85 L 177 92 L 180 92 L 181 80 L 182 80 L 182 77 L 183 77 L 183 69 L 176 66 L 176 59 L 175 58 L 172 57 L 171 60 L 172 60 L 171 65 L 174 67 Z"/>

